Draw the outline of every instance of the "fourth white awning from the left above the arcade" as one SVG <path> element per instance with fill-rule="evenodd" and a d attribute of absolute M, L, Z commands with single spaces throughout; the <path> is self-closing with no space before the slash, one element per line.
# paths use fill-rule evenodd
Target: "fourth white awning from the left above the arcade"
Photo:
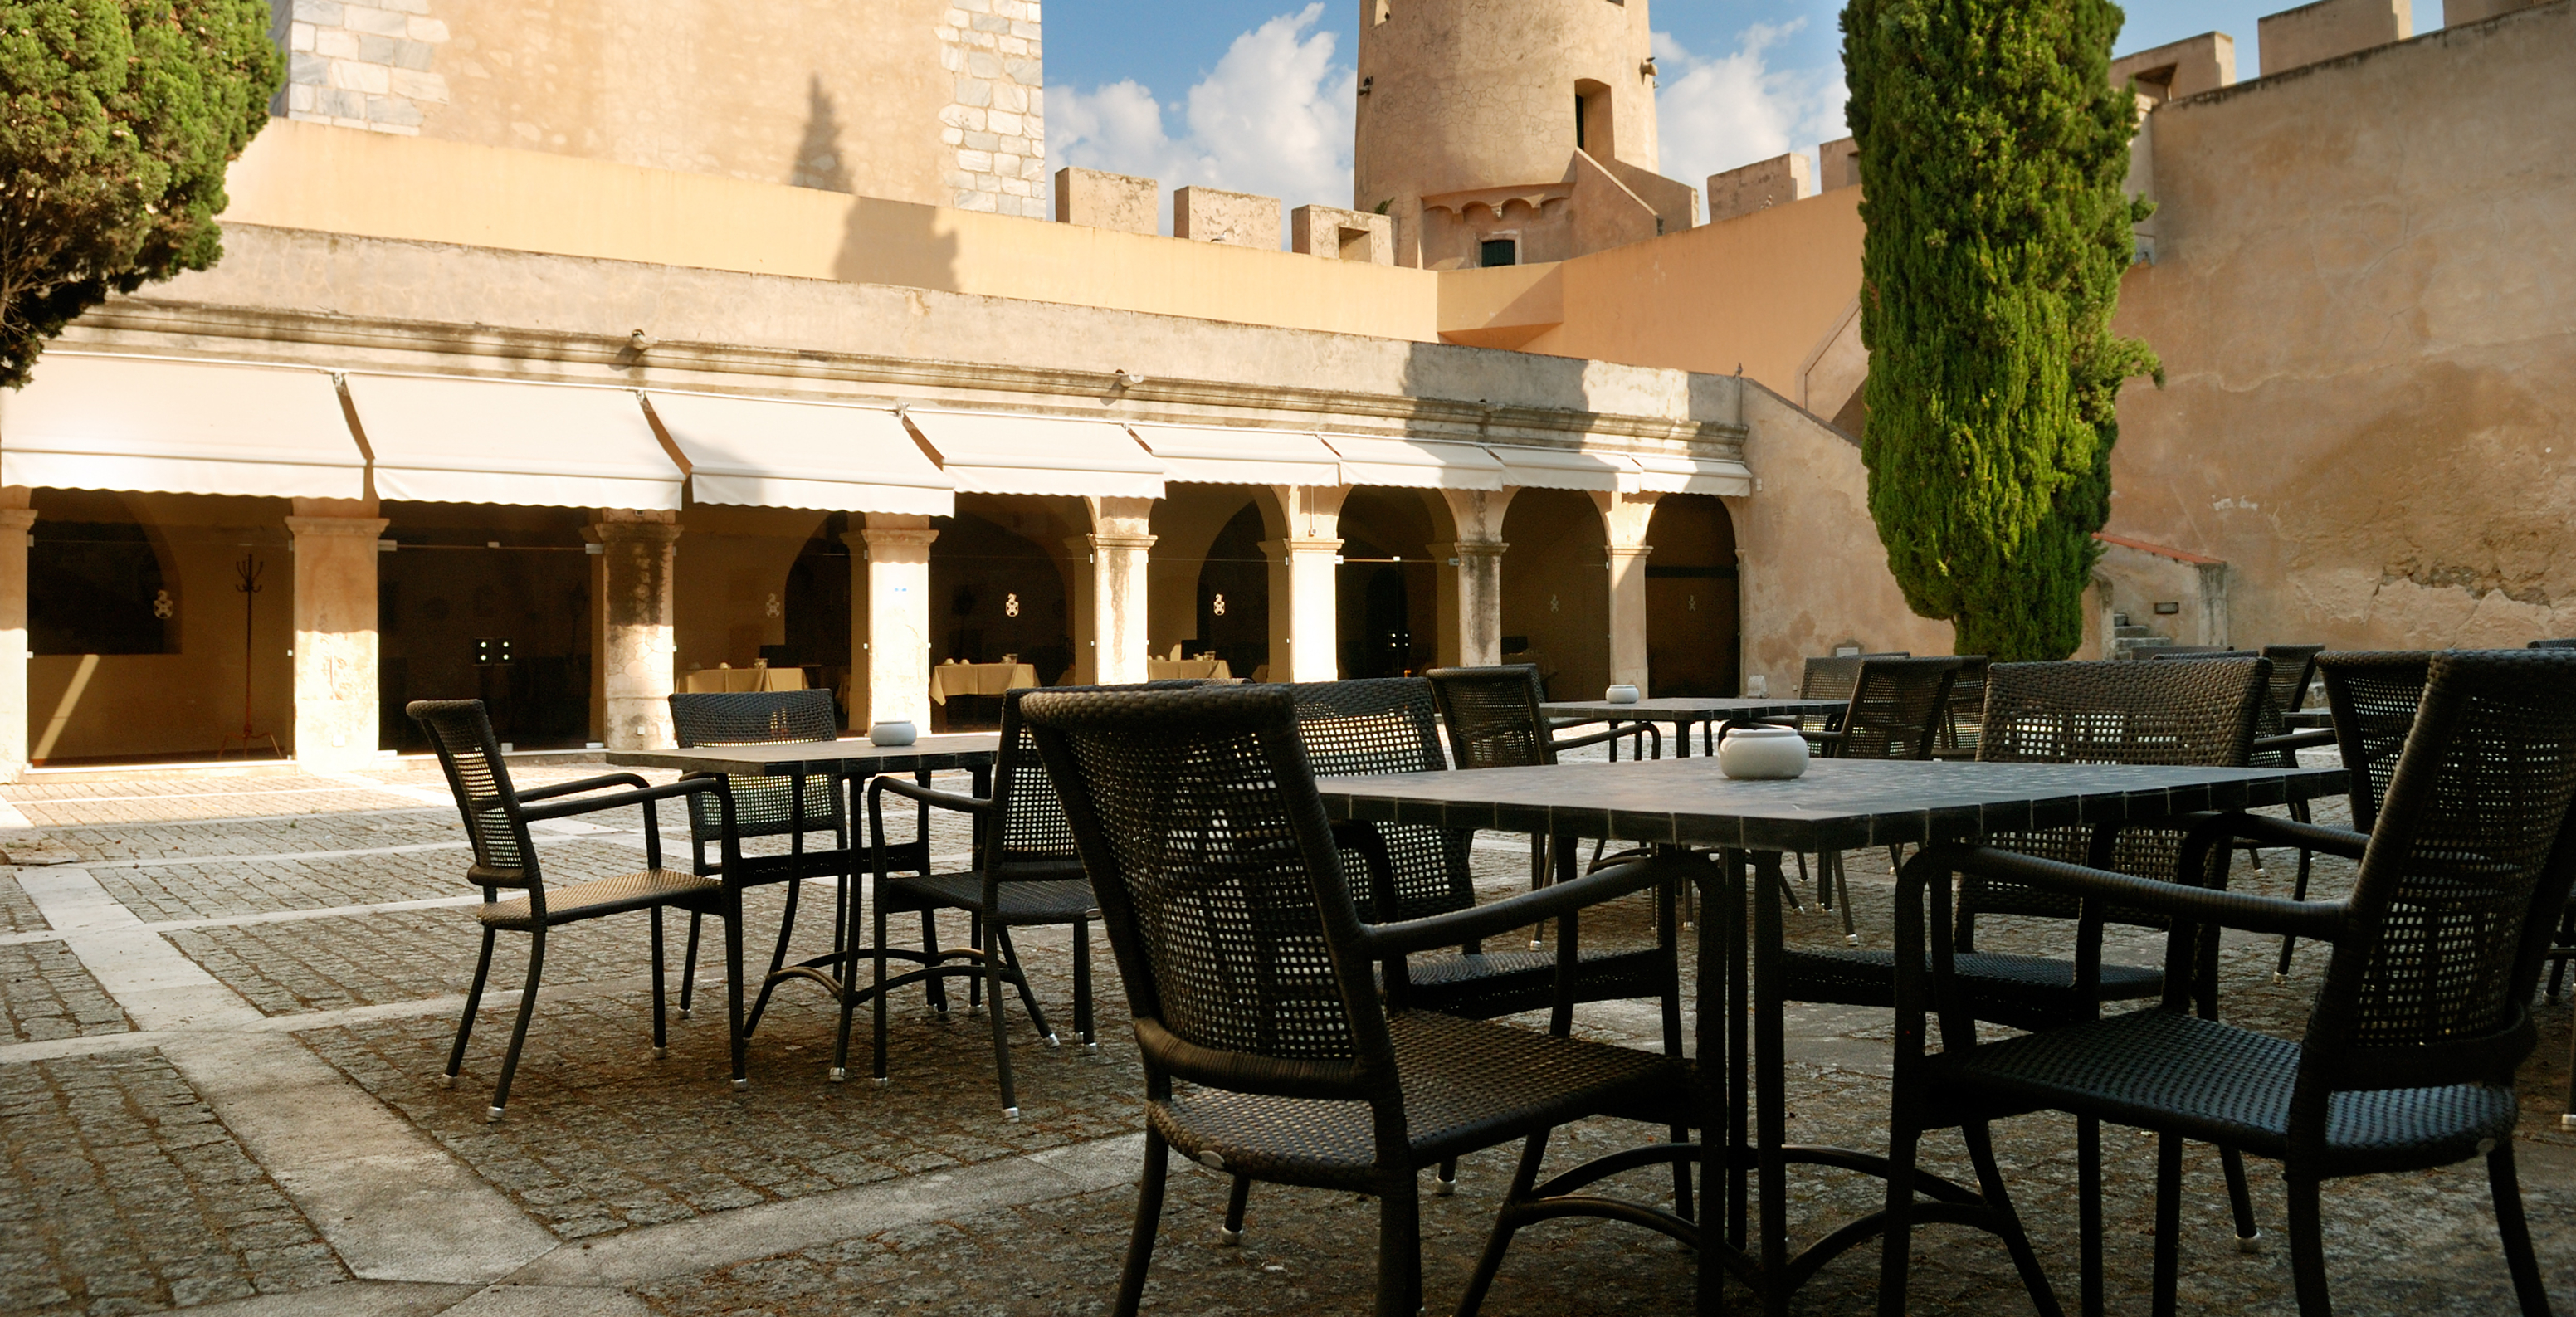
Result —
<path fill-rule="evenodd" d="M 1162 497 L 1164 464 L 1115 420 L 909 410 L 961 495 Z"/>

